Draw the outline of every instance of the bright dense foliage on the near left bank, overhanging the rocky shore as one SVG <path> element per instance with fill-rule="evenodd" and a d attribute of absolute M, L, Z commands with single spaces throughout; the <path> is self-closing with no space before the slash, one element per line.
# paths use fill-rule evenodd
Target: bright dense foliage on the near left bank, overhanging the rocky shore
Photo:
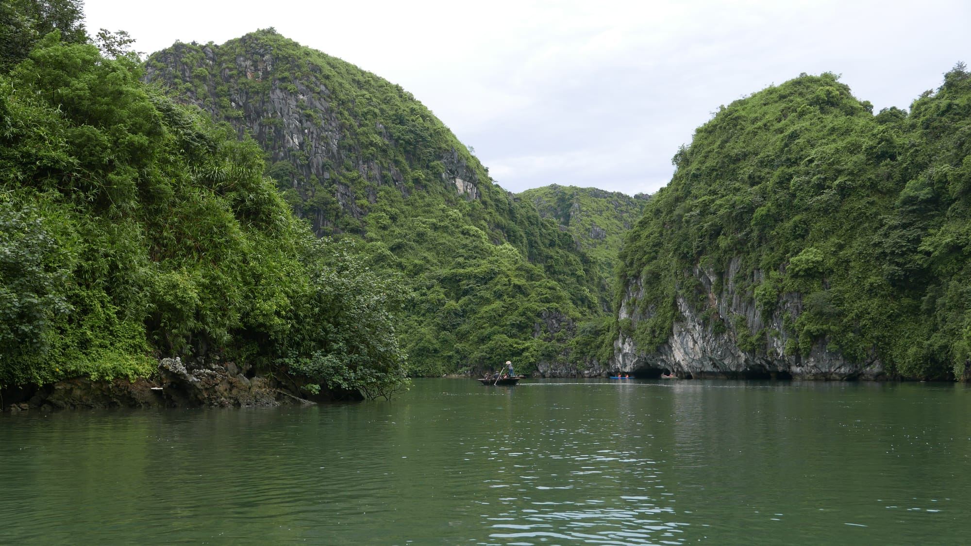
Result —
<path fill-rule="evenodd" d="M 176 355 L 400 385 L 400 284 L 315 238 L 254 143 L 142 75 L 59 32 L 0 75 L 0 386 Z"/>

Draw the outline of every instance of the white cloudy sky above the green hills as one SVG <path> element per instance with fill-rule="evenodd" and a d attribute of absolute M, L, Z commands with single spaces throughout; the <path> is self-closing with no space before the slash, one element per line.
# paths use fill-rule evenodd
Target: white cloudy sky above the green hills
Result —
<path fill-rule="evenodd" d="M 500 186 L 653 192 L 719 105 L 800 72 L 875 111 L 971 64 L 968 0 L 87 0 L 139 51 L 257 28 L 412 91 Z"/>

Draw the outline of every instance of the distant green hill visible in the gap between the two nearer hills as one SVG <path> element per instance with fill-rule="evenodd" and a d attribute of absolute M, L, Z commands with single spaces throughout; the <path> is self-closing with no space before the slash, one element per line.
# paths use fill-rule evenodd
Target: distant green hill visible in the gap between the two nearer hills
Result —
<path fill-rule="evenodd" d="M 552 218 L 573 236 L 577 248 L 597 260 L 600 274 L 614 293 L 614 271 L 623 237 L 641 218 L 650 196 L 573 186 L 526 189 L 517 198 L 531 201 L 543 218 Z"/>

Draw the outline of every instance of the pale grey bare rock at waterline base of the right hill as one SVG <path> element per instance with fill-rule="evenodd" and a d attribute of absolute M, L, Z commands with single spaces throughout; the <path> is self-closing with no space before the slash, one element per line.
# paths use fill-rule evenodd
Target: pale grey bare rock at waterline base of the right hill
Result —
<path fill-rule="evenodd" d="M 800 294 L 782 294 L 772 316 L 763 319 L 755 308 L 752 294 L 737 286 L 739 271 L 740 260 L 732 260 L 723 275 L 724 287 L 716 293 L 715 272 L 696 268 L 694 276 L 708 290 L 705 309 L 708 319 L 679 295 L 676 300 L 679 319 L 668 341 L 648 353 L 637 347 L 632 336 L 621 332 L 614 343 L 611 372 L 642 377 L 671 371 L 683 378 L 887 379 L 880 359 L 850 361 L 841 353 L 828 350 L 825 339 L 814 344 L 808 356 L 787 355 L 789 334 L 785 323 L 787 317 L 794 321 L 802 312 Z M 755 270 L 751 275 L 752 281 L 761 280 L 760 271 Z M 644 313 L 634 309 L 633 302 L 643 295 L 641 283 L 638 279 L 628 285 L 619 310 L 621 320 L 629 319 L 635 325 L 650 319 L 653 313 L 651 307 Z M 751 332 L 756 332 L 756 347 L 745 351 L 739 347 L 740 340 L 749 337 L 751 341 Z"/>

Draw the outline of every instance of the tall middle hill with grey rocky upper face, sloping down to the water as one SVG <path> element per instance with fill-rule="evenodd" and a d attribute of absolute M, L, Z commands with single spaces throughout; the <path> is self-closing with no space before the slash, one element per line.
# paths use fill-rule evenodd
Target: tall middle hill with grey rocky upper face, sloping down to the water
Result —
<path fill-rule="evenodd" d="M 354 239 L 365 263 L 401 276 L 413 374 L 586 358 L 576 323 L 609 307 L 595 260 L 492 184 L 399 85 L 272 29 L 176 44 L 152 54 L 147 71 L 251 134 L 267 174 L 319 235 Z"/>

